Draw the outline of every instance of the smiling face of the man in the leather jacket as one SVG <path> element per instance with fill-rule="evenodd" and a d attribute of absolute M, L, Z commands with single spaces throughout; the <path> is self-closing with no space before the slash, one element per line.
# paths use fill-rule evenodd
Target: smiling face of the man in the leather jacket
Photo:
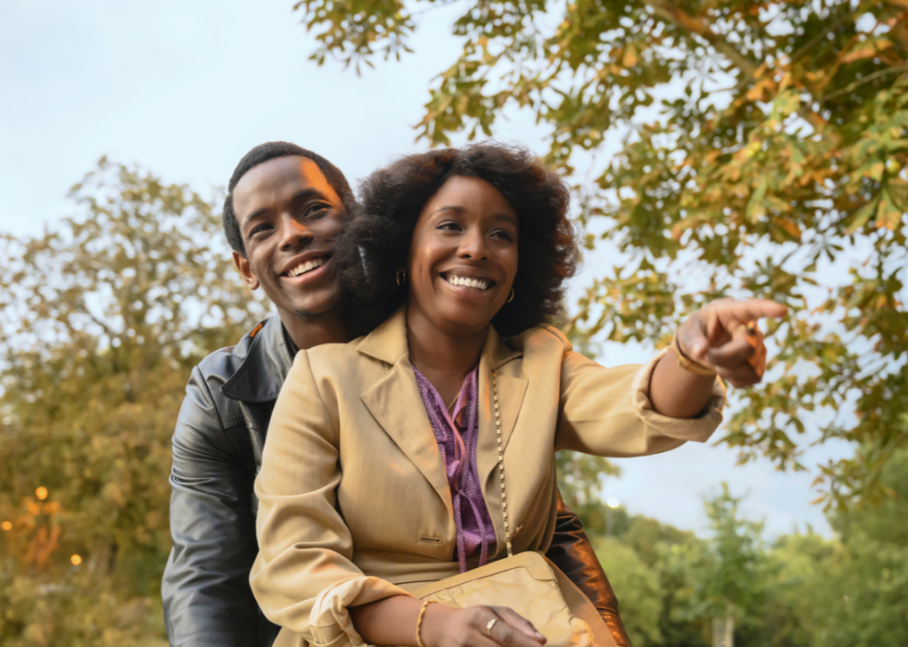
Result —
<path fill-rule="evenodd" d="M 243 256 L 233 261 L 252 289 L 261 285 L 281 315 L 317 318 L 341 299 L 331 252 L 344 227 L 341 198 L 309 158 L 263 162 L 233 189 Z"/>

